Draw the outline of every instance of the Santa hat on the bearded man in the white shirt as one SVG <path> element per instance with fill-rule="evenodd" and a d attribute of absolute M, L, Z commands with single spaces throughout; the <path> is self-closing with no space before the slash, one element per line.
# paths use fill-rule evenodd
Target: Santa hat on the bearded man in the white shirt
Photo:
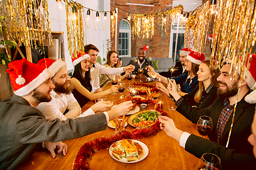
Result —
<path fill-rule="evenodd" d="M 50 71 L 50 77 L 54 77 L 54 75 L 62 68 L 62 67 L 66 67 L 67 64 L 61 60 L 51 60 L 48 58 L 43 58 L 41 60 L 38 61 L 39 65 L 41 65 L 42 67 L 46 67 L 49 69 Z"/>

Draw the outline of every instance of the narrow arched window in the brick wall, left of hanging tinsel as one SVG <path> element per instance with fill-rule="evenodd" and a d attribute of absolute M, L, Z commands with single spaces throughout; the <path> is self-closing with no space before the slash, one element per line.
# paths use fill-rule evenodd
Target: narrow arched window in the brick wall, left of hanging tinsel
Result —
<path fill-rule="evenodd" d="M 126 20 L 119 24 L 119 57 L 131 57 L 131 26 Z"/>

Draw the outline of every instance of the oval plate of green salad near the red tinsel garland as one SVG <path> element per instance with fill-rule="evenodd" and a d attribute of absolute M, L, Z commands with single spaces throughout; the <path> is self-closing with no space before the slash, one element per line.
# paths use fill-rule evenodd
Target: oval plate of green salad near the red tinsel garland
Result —
<path fill-rule="evenodd" d="M 134 128 L 146 128 L 156 123 L 160 112 L 154 110 L 140 111 L 128 118 L 128 123 Z"/>

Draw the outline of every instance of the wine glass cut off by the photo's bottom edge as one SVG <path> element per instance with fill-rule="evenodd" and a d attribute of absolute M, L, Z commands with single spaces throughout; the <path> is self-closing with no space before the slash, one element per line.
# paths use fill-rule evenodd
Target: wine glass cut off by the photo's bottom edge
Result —
<path fill-rule="evenodd" d="M 204 153 L 198 162 L 198 170 L 220 170 L 220 158 L 212 153 Z"/>

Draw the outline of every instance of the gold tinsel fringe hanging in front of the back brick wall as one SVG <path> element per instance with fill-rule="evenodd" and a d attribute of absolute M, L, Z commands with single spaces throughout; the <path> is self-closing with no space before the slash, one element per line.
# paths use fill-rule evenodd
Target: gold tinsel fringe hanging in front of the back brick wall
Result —
<path fill-rule="evenodd" d="M 154 36 L 155 28 L 155 16 L 161 18 L 161 30 L 162 33 L 165 31 L 166 26 L 166 17 L 174 18 L 177 14 L 180 14 L 183 11 L 183 6 L 175 6 L 171 10 L 157 13 L 157 14 L 138 14 L 138 13 L 129 13 L 128 21 L 132 23 L 132 39 L 137 38 L 152 38 Z"/>

